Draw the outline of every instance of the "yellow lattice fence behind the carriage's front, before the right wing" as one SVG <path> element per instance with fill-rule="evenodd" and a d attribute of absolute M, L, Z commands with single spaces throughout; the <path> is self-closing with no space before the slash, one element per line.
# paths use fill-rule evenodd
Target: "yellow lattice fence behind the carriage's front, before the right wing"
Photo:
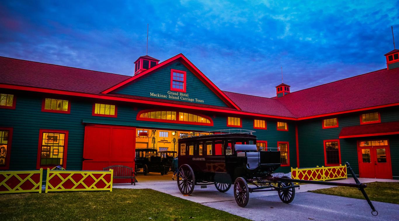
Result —
<path fill-rule="evenodd" d="M 327 166 L 327 167 L 319 167 L 316 166 L 314 168 L 292 168 L 291 167 L 291 177 L 296 180 L 335 180 L 348 178 L 348 174 L 346 172 L 345 165 L 342 166 Z"/>

